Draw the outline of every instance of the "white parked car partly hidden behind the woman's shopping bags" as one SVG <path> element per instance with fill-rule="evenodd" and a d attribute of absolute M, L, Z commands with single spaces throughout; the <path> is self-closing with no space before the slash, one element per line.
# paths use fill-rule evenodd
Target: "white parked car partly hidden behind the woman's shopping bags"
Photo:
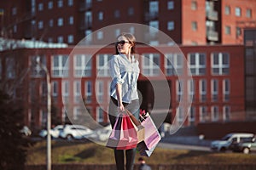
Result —
<path fill-rule="evenodd" d="M 100 142 L 107 141 L 110 133 L 112 132 L 112 127 L 109 124 L 106 127 L 97 128 L 94 133 L 91 133 L 87 138 L 91 140 L 96 140 Z"/>

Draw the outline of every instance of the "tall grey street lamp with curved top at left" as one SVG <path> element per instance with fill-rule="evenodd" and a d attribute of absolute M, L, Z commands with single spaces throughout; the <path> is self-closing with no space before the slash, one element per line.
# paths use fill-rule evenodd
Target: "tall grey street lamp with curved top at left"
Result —
<path fill-rule="evenodd" d="M 40 57 L 37 58 L 37 63 L 41 69 L 46 73 L 47 82 L 47 170 L 51 170 L 51 98 L 50 98 L 50 81 L 49 81 L 49 71 L 45 65 L 40 62 Z"/>

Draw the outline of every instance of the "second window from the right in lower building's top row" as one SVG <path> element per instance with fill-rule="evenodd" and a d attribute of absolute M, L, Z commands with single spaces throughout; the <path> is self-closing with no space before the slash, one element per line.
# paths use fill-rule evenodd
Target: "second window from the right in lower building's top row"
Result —
<path fill-rule="evenodd" d="M 206 54 L 189 54 L 189 67 L 192 75 L 205 75 L 207 67 Z"/>

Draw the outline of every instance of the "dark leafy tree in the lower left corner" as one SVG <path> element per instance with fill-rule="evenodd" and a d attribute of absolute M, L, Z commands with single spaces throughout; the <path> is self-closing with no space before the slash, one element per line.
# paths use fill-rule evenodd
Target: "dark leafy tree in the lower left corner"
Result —
<path fill-rule="evenodd" d="M 0 90 L 0 169 L 25 169 L 26 149 L 32 144 L 22 136 L 23 114 L 19 102 Z"/>

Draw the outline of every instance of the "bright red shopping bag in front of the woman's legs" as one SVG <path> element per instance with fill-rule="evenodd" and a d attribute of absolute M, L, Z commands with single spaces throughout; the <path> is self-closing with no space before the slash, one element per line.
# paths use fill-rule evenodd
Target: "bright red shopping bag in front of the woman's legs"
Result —
<path fill-rule="evenodd" d="M 137 147 L 137 129 L 128 114 L 124 113 L 117 150 L 130 150 Z"/>

